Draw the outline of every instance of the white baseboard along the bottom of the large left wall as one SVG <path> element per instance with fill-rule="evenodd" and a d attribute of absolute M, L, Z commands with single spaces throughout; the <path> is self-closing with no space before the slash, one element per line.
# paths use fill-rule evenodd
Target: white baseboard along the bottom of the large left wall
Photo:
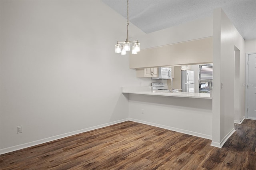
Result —
<path fill-rule="evenodd" d="M 84 128 L 84 129 L 81 129 L 81 130 L 76 130 L 76 131 L 73 131 L 73 132 L 68 132 L 68 133 L 52 136 L 52 137 L 49 137 L 49 138 L 36 140 L 36 141 L 33 141 L 33 142 L 28 142 L 28 143 L 19 144 L 19 145 L 16 145 L 16 146 L 11 146 L 11 147 L 8 147 L 8 148 L 3 148 L 3 149 L 0 149 L 0 154 L 5 154 L 5 153 L 8 153 L 8 152 L 28 148 L 28 147 L 35 146 L 35 145 L 38 145 L 38 144 L 43 144 L 43 143 L 50 142 L 50 141 L 53 141 L 53 140 L 57 140 L 57 139 L 60 139 L 60 138 L 65 138 L 65 137 L 72 136 L 72 135 L 75 135 L 75 134 L 88 132 L 90 130 L 95 130 L 95 129 L 98 129 L 98 128 L 107 127 L 107 126 L 114 125 L 114 124 L 117 124 L 117 123 L 122 123 L 122 122 L 125 122 L 125 121 L 129 121 L 129 120 L 128 119 L 122 119 L 122 120 L 119 120 L 119 121 L 105 123 L 105 124 L 97 125 L 97 126 L 94 126 L 94 127 Z"/>

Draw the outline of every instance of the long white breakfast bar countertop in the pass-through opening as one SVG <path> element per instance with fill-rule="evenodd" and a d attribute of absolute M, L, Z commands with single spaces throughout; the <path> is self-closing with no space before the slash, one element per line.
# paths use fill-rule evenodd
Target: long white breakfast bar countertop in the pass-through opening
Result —
<path fill-rule="evenodd" d="M 199 99 L 212 99 L 209 93 L 184 93 L 163 90 L 151 90 L 149 86 L 140 87 L 122 87 L 122 93 L 139 94 L 139 95 L 156 95 L 156 96 L 169 96 L 169 97 L 188 97 L 188 98 L 199 98 Z"/>

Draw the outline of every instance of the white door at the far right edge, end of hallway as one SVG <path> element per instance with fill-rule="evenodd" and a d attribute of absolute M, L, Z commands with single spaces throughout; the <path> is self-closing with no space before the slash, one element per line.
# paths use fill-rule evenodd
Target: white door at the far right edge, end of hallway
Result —
<path fill-rule="evenodd" d="M 247 119 L 256 120 L 256 53 L 246 54 L 246 111 Z"/>

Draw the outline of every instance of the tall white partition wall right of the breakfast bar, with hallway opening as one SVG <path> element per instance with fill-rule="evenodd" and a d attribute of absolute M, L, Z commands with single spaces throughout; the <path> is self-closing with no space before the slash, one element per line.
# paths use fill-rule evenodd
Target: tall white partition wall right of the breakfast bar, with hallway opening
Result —
<path fill-rule="evenodd" d="M 240 50 L 240 115 L 244 115 L 244 39 L 221 8 L 213 17 L 212 145 L 222 147 L 234 132 L 234 49 Z M 223 88 L 221 89 L 221 83 Z"/>

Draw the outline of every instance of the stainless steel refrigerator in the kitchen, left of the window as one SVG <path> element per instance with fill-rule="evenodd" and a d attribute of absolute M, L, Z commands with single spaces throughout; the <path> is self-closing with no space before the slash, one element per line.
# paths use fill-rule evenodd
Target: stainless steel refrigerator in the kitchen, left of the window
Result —
<path fill-rule="evenodd" d="M 195 92 L 195 73 L 194 71 L 181 71 L 181 89 L 182 92 Z"/>

